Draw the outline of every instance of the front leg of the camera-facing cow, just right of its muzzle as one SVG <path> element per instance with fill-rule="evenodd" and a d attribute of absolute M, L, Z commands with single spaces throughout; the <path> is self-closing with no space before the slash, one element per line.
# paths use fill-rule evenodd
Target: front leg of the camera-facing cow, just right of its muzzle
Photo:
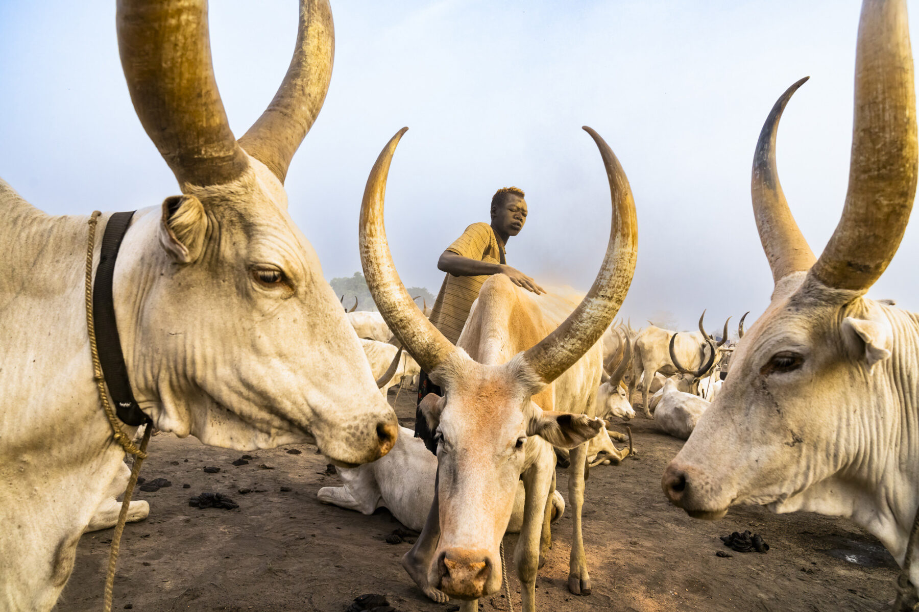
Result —
<path fill-rule="evenodd" d="M 523 506 L 523 527 L 514 551 L 517 578 L 520 579 L 521 608 L 523 612 L 536 612 L 536 574 L 539 572 L 539 545 L 545 517 L 551 510 L 551 484 L 554 453 L 545 449 L 541 456 L 522 474 L 527 492 Z"/>

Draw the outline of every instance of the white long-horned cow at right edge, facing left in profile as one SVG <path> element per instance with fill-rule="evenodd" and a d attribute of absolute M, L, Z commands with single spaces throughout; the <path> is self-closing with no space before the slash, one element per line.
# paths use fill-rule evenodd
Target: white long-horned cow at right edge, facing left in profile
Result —
<path fill-rule="evenodd" d="M 906 560 L 917 552 L 919 315 L 865 297 L 900 245 L 915 196 L 906 2 L 862 5 L 848 192 L 819 259 L 776 169 L 778 120 L 805 80 L 773 106 L 754 154 L 771 302 L 738 342 L 720 395 L 662 484 L 694 517 L 718 518 L 738 503 L 851 517 L 905 564 L 911 584 L 902 586 L 915 604 L 919 564 Z"/>

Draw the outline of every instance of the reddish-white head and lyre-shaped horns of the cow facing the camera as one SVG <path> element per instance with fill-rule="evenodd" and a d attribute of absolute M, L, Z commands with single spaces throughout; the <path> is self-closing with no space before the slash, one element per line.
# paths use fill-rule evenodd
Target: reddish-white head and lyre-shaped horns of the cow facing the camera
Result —
<path fill-rule="evenodd" d="M 498 551 L 524 462 L 546 462 L 551 470 L 554 453 L 547 441 L 573 448 L 603 425 L 594 417 L 544 412 L 530 399 L 594 346 L 616 316 L 635 267 L 637 229 L 628 180 L 606 142 L 584 129 L 600 149 L 612 191 L 607 254 L 590 292 L 571 316 L 509 361 L 474 361 L 460 348 L 465 336 L 454 346 L 418 310 L 395 272 L 383 228 L 383 195 L 404 129 L 380 153 L 364 192 L 360 250 L 370 292 L 393 333 L 445 394 L 427 395 L 422 409 L 439 440 L 441 535 L 429 579 L 451 596 L 477 598 L 500 586 Z M 491 291 L 508 299 L 516 295 L 510 281 L 496 275 L 482 286 L 480 305 L 493 299 Z"/>

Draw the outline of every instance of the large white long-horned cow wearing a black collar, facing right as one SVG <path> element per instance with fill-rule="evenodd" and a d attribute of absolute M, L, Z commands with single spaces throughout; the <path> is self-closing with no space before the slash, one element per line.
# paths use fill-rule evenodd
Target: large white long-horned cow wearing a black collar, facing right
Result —
<path fill-rule="evenodd" d="M 340 464 L 378 459 L 398 435 L 395 415 L 283 185 L 331 75 L 328 3 L 302 0 L 287 75 L 239 140 L 214 81 L 204 0 L 120 0 L 117 25 L 131 100 L 182 192 L 134 214 L 114 268 L 143 413 L 227 448 L 312 438 Z M 0 209 L 0 608 L 48 610 L 124 451 L 90 357 L 89 217 L 50 217 L 2 181 Z M 109 218 L 98 220 L 94 269 Z"/>

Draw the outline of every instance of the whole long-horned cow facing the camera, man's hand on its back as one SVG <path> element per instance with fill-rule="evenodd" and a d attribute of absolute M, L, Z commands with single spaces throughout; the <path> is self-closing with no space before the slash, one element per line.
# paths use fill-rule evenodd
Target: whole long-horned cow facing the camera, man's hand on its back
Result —
<path fill-rule="evenodd" d="M 440 535 L 425 550 L 425 555 L 432 553 L 430 565 L 419 570 L 426 575 L 413 578 L 429 596 L 442 599 L 446 593 L 466 600 L 462 610 L 476 609 L 478 597 L 501 585 L 499 546 L 521 479 L 526 502 L 515 564 L 523 608 L 535 609 L 539 552 L 548 547 L 548 538 L 540 534 L 548 536 L 546 510 L 555 473 L 551 445 L 575 449 L 569 476 L 574 540 L 568 584 L 575 594 L 590 591 L 581 508 L 584 441 L 603 425 L 593 416 L 602 371 L 597 340 L 628 292 L 637 227 L 625 172 L 603 139 L 584 129 L 600 150 L 612 193 L 612 229 L 596 281 L 575 305 L 558 295 L 528 293 L 496 274 L 482 284 L 457 346 L 415 306 L 386 241 L 383 195 L 404 128 L 380 153 L 364 193 L 360 254 L 374 301 L 406 350 L 444 392 L 443 397 L 425 396 L 421 405 L 438 438 L 439 484 L 432 512 L 439 514 Z M 556 411 L 561 409 L 575 414 Z"/>

